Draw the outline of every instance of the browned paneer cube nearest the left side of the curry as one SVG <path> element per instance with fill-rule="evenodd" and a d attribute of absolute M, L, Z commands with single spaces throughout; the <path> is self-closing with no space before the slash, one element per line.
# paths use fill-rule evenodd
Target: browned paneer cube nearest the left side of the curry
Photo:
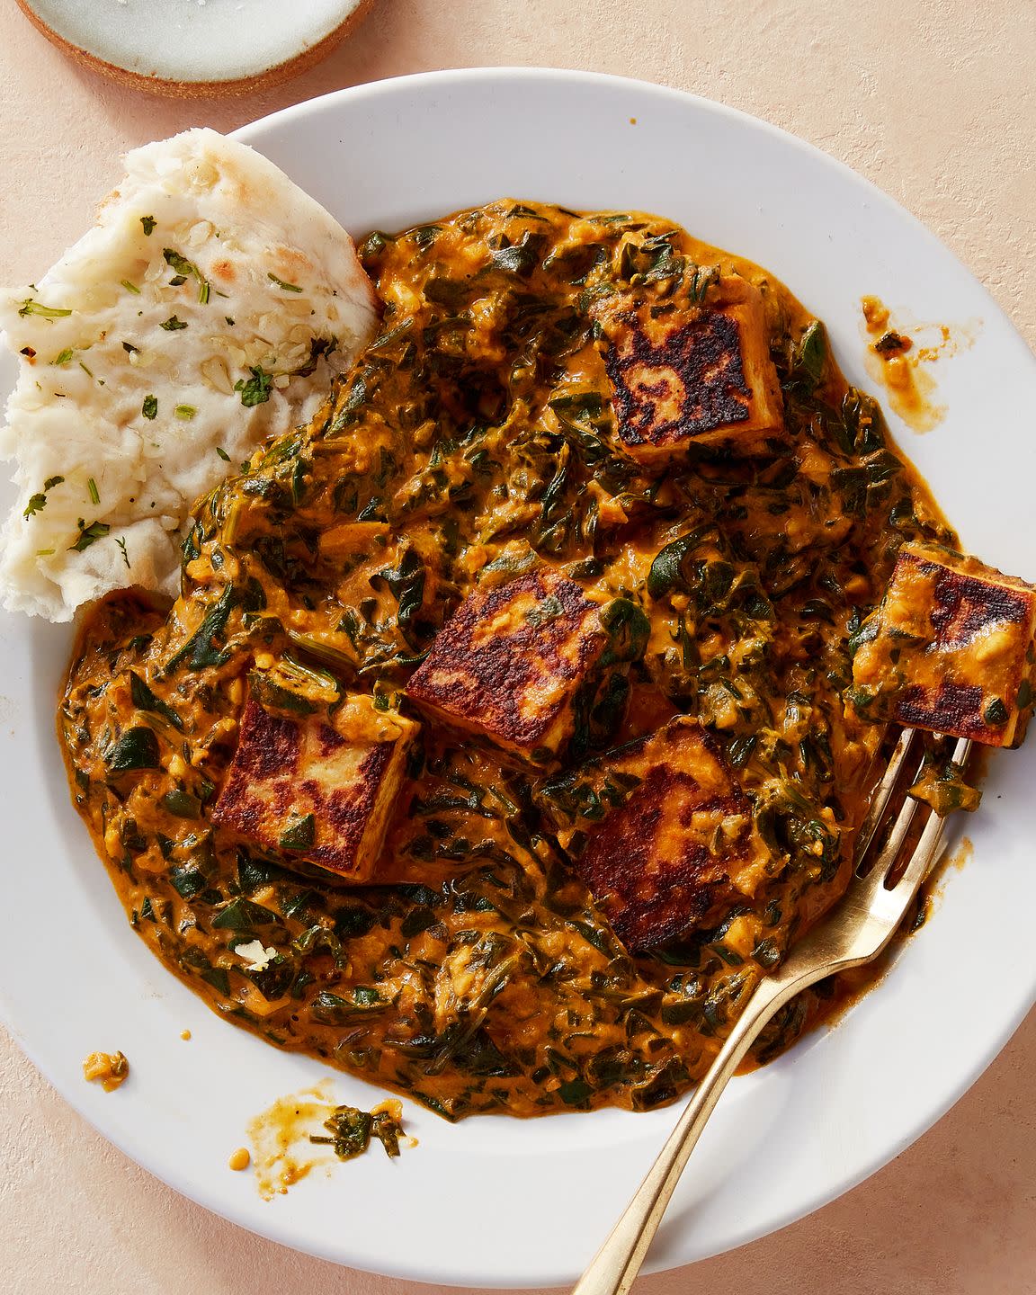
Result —
<path fill-rule="evenodd" d="M 289 865 L 370 881 L 418 728 L 366 695 L 291 716 L 253 692 L 212 821 Z"/>

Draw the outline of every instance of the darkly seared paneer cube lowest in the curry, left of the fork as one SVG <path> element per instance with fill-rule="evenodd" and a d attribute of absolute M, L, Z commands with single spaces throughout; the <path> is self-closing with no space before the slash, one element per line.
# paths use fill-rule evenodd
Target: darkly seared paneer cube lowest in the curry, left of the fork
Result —
<path fill-rule="evenodd" d="M 769 852 L 749 798 L 697 720 L 670 720 L 620 747 L 607 769 L 633 789 L 574 862 L 631 953 L 719 921 L 755 894 Z"/>

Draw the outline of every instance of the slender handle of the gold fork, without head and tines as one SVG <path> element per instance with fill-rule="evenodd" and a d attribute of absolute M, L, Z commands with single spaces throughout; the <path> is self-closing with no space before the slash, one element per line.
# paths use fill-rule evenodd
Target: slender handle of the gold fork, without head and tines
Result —
<path fill-rule="evenodd" d="M 658 1159 L 648 1171 L 637 1194 L 625 1207 L 607 1241 L 580 1277 L 572 1295 L 625 1295 L 640 1272 L 648 1247 L 662 1222 L 666 1206 L 706 1120 L 726 1088 L 726 1081 L 771 1017 L 804 989 L 809 979 L 799 976 L 791 983 L 785 983 L 764 976 L 756 984 L 745 1010 L 688 1102 Z"/>

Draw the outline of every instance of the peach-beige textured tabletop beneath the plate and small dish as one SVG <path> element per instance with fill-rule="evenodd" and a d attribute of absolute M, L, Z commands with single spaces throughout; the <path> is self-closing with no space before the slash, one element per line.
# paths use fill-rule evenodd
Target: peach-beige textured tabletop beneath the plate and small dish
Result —
<path fill-rule="evenodd" d="M 231 130 L 356 82 L 479 63 L 642 76 L 804 136 L 926 221 L 1036 344 L 1033 0 L 381 0 L 299 80 L 208 102 L 153 98 L 78 70 L 6 0 L 0 281 L 31 280 L 83 232 L 127 146 L 193 124 Z M 1035 1072 L 1036 1014 L 958 1106 L 869 1182 L 774 1237 L 641 1289 L 1036 1292 Z M 205 1213 L 107 1146 L 3 1039 L 0 1097 L 8 1295 L 420 1295 Z"/>

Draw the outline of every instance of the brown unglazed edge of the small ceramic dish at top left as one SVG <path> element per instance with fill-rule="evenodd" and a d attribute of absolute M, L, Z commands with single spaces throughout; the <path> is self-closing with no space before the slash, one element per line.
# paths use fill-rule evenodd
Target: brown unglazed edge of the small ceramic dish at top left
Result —
<path fill-rule="evenodd" d="M 149 76 L 144 73 L 135 73 L 128 67 L 122 67 L 119 63 L 110 62 L 100 54 L 92 53 L 56 31 L 45 18 L 36 13 L 31 0 L 17 0 L 18 8 L 32 26 L 82 67 L 92 73 L 100 73 L 100 75 L 107 76 L 110 80 L 118 82 L 128 89 L 162 95 L 168 98 L 205 98 L 219 95 L 240 98 L 258 91 L 272 89 L 290 80 L 293 76 L 300 76 L 319 62 L 322 62 L 346 36 L 351 35 L 363 23 L 376 3 L 377 0 L 357 0 L 351 12 L 320 40 L 300 49 L 297 54 L 265 67 L 263 71 L 228 78 L 225 80 L 177 80 L 170 76 Z"/>

